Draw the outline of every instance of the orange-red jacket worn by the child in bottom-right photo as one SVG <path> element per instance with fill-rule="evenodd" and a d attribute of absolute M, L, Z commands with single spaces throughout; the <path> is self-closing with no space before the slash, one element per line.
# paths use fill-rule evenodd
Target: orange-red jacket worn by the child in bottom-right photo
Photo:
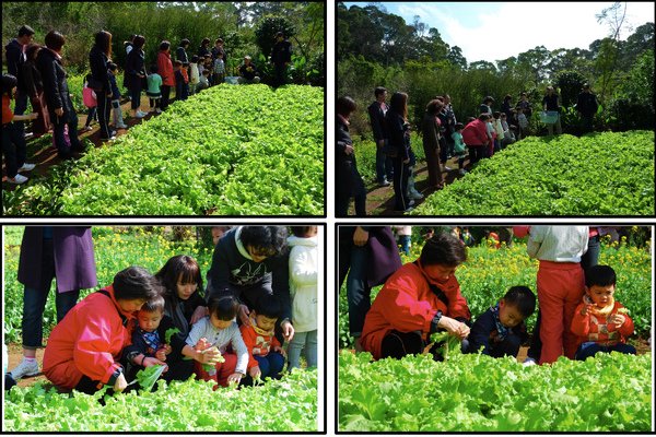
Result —
<path fill-rule="evenodd" d="M 633 320 L 629 315 L 624 315 L 626 321 L 620 329 L 617 329 L 614 324 L 607 324 L 610 316 L 618 314 L 618 309 L 624 308 L 619 302 L 616 300 L 608 317 L 590 312 L 582 316 L 581 310 L 584 305 L 585 303 L 582 303 L 576 307 L 574 319 L 572 319 L 572 332 L 578 336 L 577 344 L 595 342 L 602 346 L 612 346 L 618 343 L 626 343 L 626 338 L 633 334 Z"/>

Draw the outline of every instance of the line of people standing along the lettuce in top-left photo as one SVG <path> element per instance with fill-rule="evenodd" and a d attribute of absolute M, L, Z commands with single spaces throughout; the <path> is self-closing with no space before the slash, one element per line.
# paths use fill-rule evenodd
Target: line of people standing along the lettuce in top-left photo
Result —
<path fill-rule="evenodd" d="M 78 114 L 71 101 L 67 70 L 62 62 L 66 37 L 58 31 L 50 31 L 44 44 L 34 43 L 35 31 L 23 25 L 17 37 L 5 46 L 8 74 L 2 76 L 2 153 L 7 161 L 7 177 L 10 184 L 23 184 L 27 177 L 21 172 L 30 172 L 34 164 L 26 162 L 26 134 L 24 122 L 32 120 L 31 135 L 38 138 L 52 131 L 58 156 L 68 160 L 73 152 L 83 151 L 78 134 Z M 117 129 L 127 129 L 122 119 L 121 94 L 118 86 L 119 68 L 112 61 L 112 34 L 101 31 L 95 34 L 89 54 L 90 74 L 86 75 L 82 97 L 89 110 L 83 130 L 92 130 L 91 123 L 97 120 L 103 141 L 116 138 Z M 273 85 L 284 85 L 291 63 L 292 46 L 284 34 L 276 34 L 271 52 L 274 67 Z M 150 99 L 150 113 L 160 114 L 171 103 L 171 91 L 176 101 L 185 101 L 189 95 L 224 82 L 227 71 L 227 56 L 222 38 L 216 38 L 210 49 L 210 38 L 203 38 L 196 55 L 189 57 L 191 45 L 181 39 L 172 59 L 172 44 L 162 40 L 156 59 L 148 62 L 144 55 L 145 37 L 132 35 L 125 42 L 127 58 L 124 67 L 124 86 L 128 90 L 131 117 L 143 118 L 148 111 L 141 110 L 141 94 Z M 260 73 L 250 56 L 244 58 L 237 70 L 238 83 L 259 83 Z M 11 99 L 15 96 L 12 110 Z M 32 113 L 25 115 L 27 103 Z M 113 113 L 113 125 L 109 114 Z"/>

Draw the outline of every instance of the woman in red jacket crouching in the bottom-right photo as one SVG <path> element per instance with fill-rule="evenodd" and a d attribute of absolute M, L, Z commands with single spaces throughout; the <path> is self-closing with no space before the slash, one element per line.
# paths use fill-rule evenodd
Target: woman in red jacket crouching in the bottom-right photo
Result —
<path fill-rule="evenodd" d="M 469 335 L 471 315 L 454 275 L 467 255 L 459 239 L 441 233 L 429 239 L 414 262 L 385 283 L 364 320 L 361 342 L 375 359 L 420 354 L 430 334 L 446 330 Z"/>

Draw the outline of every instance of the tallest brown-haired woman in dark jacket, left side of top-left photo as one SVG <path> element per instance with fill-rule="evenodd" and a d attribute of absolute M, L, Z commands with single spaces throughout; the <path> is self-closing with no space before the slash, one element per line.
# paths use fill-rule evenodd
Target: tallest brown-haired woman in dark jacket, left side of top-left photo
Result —
<path fill-rule="evenodd" d="M 44 81 L 55 144 L 59 157 L 67 160 L 71 156 L 71 149 L 81 151 L 83 147 L 78 138 L 78 115 L 69 94 L 66 70 L 61 64 L 61 49 L 66 38 L 59 32 L 50 31 L 45 42 L 46 48 L 42 49 L 36 57 L 36 67 Z M 68 126 L 71 149 L 63 135 L 65 126 Z"/>

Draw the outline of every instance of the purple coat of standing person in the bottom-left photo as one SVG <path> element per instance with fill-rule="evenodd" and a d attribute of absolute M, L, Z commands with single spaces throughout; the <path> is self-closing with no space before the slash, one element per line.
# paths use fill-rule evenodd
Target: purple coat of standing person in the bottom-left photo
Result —
<path fill-rule="evenodd" d="M 43 275 L 43 226 L 25 226 L 19 261 L 19 282 L 39 288 Z M 57 292 L 93 288 L 97 285 L 91 228 L 85 226 L 54 226 L 55 276 Z"/>

